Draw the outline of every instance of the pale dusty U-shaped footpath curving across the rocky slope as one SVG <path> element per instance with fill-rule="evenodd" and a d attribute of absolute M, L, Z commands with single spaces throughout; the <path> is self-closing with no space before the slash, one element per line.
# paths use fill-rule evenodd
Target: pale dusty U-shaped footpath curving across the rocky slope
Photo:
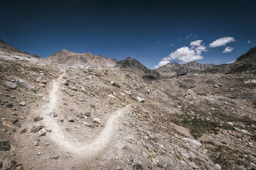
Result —
<path fill-rule="evenodd" d="M 90 143 L 85 143 L 83 141 L 67 137 L 65 131 L 62 129 L 62 127 L 59 126 L 57 120 L 48 116 L 50 112 L 54 111 L 57 105 L 60 82 L 64 75 L 65 73 L 53 81 L 52 88 L 49 92 L 49 102 L 44 106 L 45 109 L 43 110 L 43 124 L 45 127 L 52 129 L 52 132 L 47 133 L 47 136 L 49 136 L 50 139 L 53 140 L 58 146 L 71 153 L 76 153 L 83 157 L 91 157 L 92 155 L 96 155 L 102 151 L 107 146 L 115 127 L 115 119 L 121 116 L 124 111 L 128 110 L 130 104 L 115 111 L 107 119 L 102 132 L 97 136 L 95 140 L 91 141 Z"/>

